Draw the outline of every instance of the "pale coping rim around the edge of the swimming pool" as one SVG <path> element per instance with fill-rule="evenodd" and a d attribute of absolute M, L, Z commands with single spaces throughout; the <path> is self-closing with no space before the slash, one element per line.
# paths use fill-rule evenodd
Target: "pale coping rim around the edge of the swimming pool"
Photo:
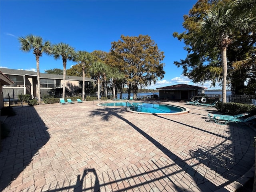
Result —
<path fill-rule="evenodd" d="M 136 114 L 145 114 L 145 115 L 182 115 L 182 114 L 186 114 L 190 111 L 189 108 L 183 107 L 183 106 L 178 106 L 178 105 L 170 105 L 170 104 L 165 104 L 165 103 L 160 103 L 160 102 L 141 102 L 141 101 L 132 101 L 132 102 L 137 102 L 137 103 L 154 103 L 154 104 L 163 104 L 163 105 L 168 105 L 168 106 L 174 106 L 174 107 L 178 107 L 178 108 L 182 108 L 184 109 L 181 112 L 174 112 L 174 113 L 147 113 L 147 112 L 137 112 L 137 111 L 132 111 L 130 110 L 130 108 L 126 107 L 126 106 L 101 106 L 100 104 L 102 103 L 116 103 L 116 102 L 120 102 L 120 101 L 111 101 L 111 102 L 101 102 L 98 103 L 97 106 L 100 107 L 109 107 L 109 108 L 117 108 L 117 107 L 124 107 L 126 108 L 126 111 L 131 112 L 131 113 L 136 113 Z M 131 102 L 131 101 L 126 101 L 126 102 Z"/>

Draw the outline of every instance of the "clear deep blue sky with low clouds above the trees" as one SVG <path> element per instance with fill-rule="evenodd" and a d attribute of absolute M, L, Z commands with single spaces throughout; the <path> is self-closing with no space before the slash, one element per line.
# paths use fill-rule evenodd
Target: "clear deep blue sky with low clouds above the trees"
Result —
<path fill-rule="evenodd" d="M 169 1 L 0 1 L 0 66 L 36 71 L 32 52 L 20 50 L 18 37 L 33 34 L 64 42 L 75 50 L 109 52 L 111 42 L 120 36 L 149 35 L 164 52 L 166 74 L 154 86 L 191 84 L 182 76 L 182 68 L 173 63 L 186 58 L 184 43 L 172 36 L 183 32 L 183 16 L 196 3 L 194 0 Z M 68 62 L 67 69 L 76 63 Z M 62 60 L 43 55 L 40 72 L 63 68 Z M 196 84 L 197 85 L 197 84 Z M 201 85 L 198 85 L 201 86 Z M 208 89 L 210 82 L 203 85 Z"/>

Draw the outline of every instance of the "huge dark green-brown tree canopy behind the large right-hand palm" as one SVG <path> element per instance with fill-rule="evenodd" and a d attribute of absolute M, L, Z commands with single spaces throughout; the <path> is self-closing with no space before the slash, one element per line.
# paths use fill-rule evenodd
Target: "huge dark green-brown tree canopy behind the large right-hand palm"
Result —
<path fill-rule="evenodd" d="M 221 7 L 221 4 L 226 2 L 233 2 L 232 8 L 228 9 L 229 12 L 224 12 L 227 17 L 222 17 L 219 22 L 230 20 L 231 22 L 226 22 L 228 25 L 225 29 L 230 30 L 232 27 L 232 33 L 223 30 L 223 27 L 212 27 L 212 36 L 209 36 L 209 33 L 206 34 L 206 31 L 200 28 L 200 21 L 204 18 L 207 22 L 209 14 L 212 14 L 210 10 Z M 189 14 L 184 16 L 183 26 L 186 31 L 180 34 L 173 33 L 175 38 L 185 43 L 184 49 L 188 51 L 185 59 L 174 62 L 176 66 L 183 68 L 184 76 L 188 76 L 195 83 L 212 81 L 212 86 L 216 86 L 216 83 L 222 84 L 220 39 L 216 36 L 228 32 L 230 42 L 227 49 L 227 83 L 235 93 L 239 93 L 241 88 L 245 87 L 246 81 L 252 77 L 252 70 L 255 70 L 255 59 L 253 59 L 256 46 L 255 25 L 252 27 L 253 21 L 255 24 L 255 2 L 199 0 L 193 6 Z M 217 9 L 215 10 L 218 12 Z M 241 18 L 244 22 L 241 22 Z M 244 30 L 242 24 L 250 27 Z"/>

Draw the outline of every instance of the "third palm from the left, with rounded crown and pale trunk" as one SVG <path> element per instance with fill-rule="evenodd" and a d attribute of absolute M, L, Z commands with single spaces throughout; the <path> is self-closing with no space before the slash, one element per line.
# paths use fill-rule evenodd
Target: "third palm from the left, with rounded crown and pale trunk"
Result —
<path fill-rule="evenodd" d="M 74 61 L 78 62 L 82 66 L 82 74 L 83 74 L 83 88 L 82 88 L 82 100 L 85 99 L 85 88 L 84 88 L 84 81 L 85 81 L 85 75 L 84 71 L 85 68 L 90 66 L 90 63 L 92 62 L 93 57 L 90 53 L 86 51 L 78 51 L 76 52 L 76 55 L 74 57 Z"/>

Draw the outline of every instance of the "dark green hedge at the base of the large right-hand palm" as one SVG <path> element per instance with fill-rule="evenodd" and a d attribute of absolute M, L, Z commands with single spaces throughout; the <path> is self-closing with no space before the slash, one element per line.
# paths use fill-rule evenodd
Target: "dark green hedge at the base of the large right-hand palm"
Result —
<path fill-rule="evenodd" d="M 256 114 L 256 106 L 243 104 L 243 103 L 224 103 L 222 108 L 222 102 L 216 104 L 216 109 L 222 111 L 224 114 L 236 115 L 244 112 Z"/>

